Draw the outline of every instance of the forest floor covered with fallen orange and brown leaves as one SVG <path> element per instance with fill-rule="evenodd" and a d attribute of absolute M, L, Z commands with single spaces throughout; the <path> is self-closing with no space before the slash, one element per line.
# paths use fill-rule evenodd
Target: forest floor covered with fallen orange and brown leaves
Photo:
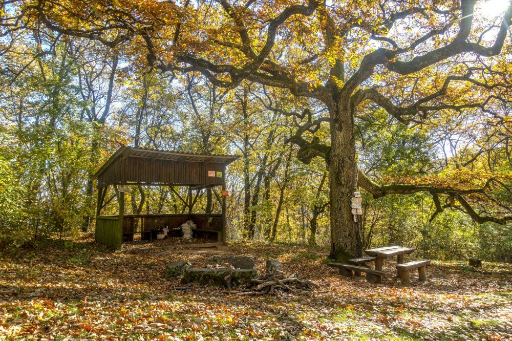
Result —
<path fill-rule="evenodd" d="M 425 283 L 367 283 L 326 265 L 327 250 L 235 243 L 264 271 L 278 259 L 321 287 L 310 296 L 173 290 L 166 264 L 204 267 L 211 254 L 109 252 L 92 239 L 20 249 L 0 259 L 0 339 L 484 339 L 512 338 L 512 265 L 433 262 Z M 414 257 L 414 254 L 413 254 Z M 386 267 L 394 272 L 394 264 Z M 417 279 L 414 271 L 412 280 Z"/>

